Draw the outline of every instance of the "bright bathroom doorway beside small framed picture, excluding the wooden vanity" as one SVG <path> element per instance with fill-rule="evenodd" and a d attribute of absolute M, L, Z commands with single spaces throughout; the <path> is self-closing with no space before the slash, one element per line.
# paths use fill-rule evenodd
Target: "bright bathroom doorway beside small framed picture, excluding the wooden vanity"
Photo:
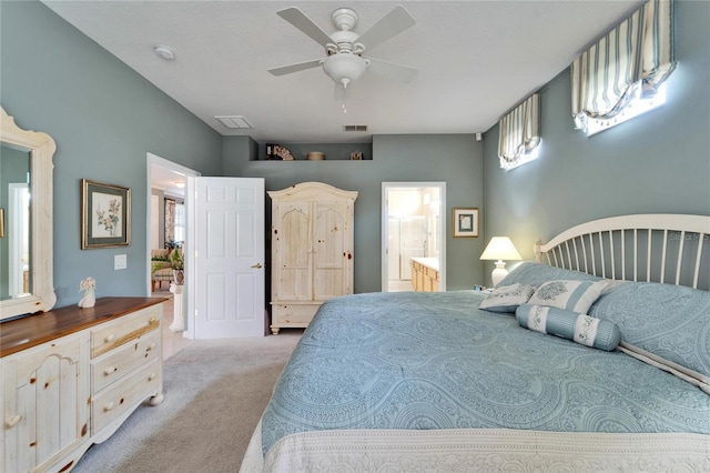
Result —
<path fill-rule="evenodd" d="M 413 291 L 412 262 L 436 268 L 446 290 L 446 183 L 383 182 L 382 291 Z"/>

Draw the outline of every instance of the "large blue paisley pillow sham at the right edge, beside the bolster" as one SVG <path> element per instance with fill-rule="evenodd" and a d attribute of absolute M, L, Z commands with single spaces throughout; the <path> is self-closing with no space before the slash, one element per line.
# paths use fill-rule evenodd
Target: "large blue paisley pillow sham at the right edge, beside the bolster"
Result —
<path fill-rule="evenodd" d="M 653 282 L 620 284 L 599 298 L 589 314 L 617 324 L 622 346 L 667 371 L 696 378 L 710 392 L 710 292 Z"/>

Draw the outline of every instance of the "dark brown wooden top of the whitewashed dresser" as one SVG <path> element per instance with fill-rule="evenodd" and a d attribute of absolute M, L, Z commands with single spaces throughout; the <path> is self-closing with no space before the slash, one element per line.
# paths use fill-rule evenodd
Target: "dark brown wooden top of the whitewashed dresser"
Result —
<path fill-rule="evenodd" d="M 0 323 L 0 358 L 165 302 L 164 298 L 100 298 L 93 308 L 69 305 Z"/>

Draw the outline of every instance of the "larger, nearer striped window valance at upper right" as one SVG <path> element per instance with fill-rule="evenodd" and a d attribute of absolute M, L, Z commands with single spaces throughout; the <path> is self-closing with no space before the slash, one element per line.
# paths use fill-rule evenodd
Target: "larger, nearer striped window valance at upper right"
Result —
<path fill-rule="evenodd" d="M 575 128 L 652 95 L 674 68 L 672 0 L 649 0 L 572 62 Z"/>

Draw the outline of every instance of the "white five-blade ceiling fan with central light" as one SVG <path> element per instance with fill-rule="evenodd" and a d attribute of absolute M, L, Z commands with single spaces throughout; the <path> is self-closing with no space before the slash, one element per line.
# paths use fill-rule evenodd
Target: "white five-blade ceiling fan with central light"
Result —
<path fill-rule="evenodd" d="M 339 8 L 333 12 L 331 20 L 337 31 L 332 34 L 323 31 L 296 7 L 286 8 L 276 13 L 324 47 L 326 57 L 270 69 L 268 72 L 274 76 L 323 67 L 323 71 L 335 81 L 337 94 L 338 90 L 344 92 L 366 69 L 403 82 L 410 81 L 417 73 L 416 69 L 407 66 L 369 57 L 363 58 L 366 50 L 394 38 L 416 23 L 416 20 L 403 6 L 392 9 L 389 13 L 362 34 L 353 31 L 357 27 L 358 17 L 349 8 Z M 343 88 L 341 89 L 339 85 Z"/>

